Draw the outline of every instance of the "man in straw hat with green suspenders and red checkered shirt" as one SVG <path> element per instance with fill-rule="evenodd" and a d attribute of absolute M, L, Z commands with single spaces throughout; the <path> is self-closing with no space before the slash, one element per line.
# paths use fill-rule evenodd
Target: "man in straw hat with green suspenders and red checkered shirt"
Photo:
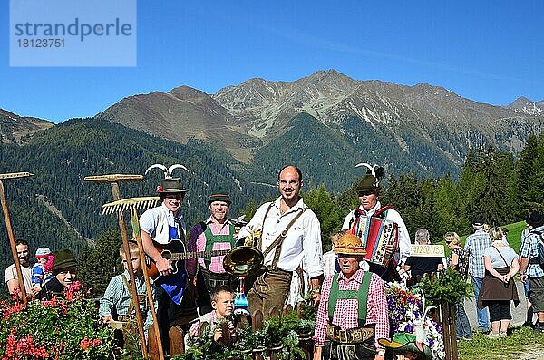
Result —
<path fill-rule="evenodd" d="M 341 272 L 325 278 L 317 310 L 314 360 L 384 360 L 389 338 L 384 281 L 364 271 L 361 239 L 346 233 L 335 247 Z"/>

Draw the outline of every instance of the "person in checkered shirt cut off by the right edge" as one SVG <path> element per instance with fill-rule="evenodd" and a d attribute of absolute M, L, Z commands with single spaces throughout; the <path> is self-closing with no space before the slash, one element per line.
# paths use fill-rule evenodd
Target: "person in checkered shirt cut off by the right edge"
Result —
<path fill-rule="evenodd" d="M 529 281 L 529 300 L 538 316 L 533 332 L 544 333 L 544 217 L 532 212 L 527 223 L 532 229 L 521 240 L 520 280 Z"/>

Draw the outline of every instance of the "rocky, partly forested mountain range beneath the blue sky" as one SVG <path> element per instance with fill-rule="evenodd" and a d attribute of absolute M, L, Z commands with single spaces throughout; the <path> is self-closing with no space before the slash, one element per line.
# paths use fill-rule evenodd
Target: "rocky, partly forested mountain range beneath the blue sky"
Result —
<path fill-rule="evenodd" d="M 473 102 L 442 87 L 359 81 L 334 70 L 294 82 L 250 79 L 207 94 L 188 86 L 122 99 L 88 119 L 53 124 L 0 109 L 0 173 L 30 171 L 5 181 L 15 236 L 32 248 L 83 248 L 116 227 L 100 214 L 108 187 L 88 175 L 143 173 L 152 163 L 181 163 L 190 189 L 188 225 L 208 216 L 217 187 L 233 198 L 233 215 L 248 202 L 277 195 L 277 170 L 298 165 L 305 189 L 324 183 L 342 191 L 363 173 L 358 162 L 387 174 L 459 174 L 471 147 L 491 141 L 518 155 L 540 133 L 544 102 L 520 98 L 508 106 Z M 125 196 L 154 193 L 160 171 Z M 6 238 L 0 221 L 0 238 Z M 9 248 L 0 248 L 0 268 Z"/>

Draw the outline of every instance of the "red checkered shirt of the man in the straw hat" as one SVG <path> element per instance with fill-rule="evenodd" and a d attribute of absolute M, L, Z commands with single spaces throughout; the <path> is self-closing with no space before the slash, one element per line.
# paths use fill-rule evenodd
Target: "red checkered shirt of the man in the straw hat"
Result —
<path fill-rule="evenodd" d="M 340 273 L 338 276 L 338 288 L 340 290 L 358 290 L 361 286 L 364 270 L 358 269 L 349 279 Z M 326 326 L 329 324 L 328 299 L 331 292 L 333 276 L 327 277 L 321 288 L 321 301 L 317 310 L 316 332 L 314 341 L 316 346 L 323 346 L 325 343 Z M 356 299 L 338 299 L 335 306 L 332 324 L 340 328 L 351 329 L 359 327 L 358 302 Z M 389 319 L 387 317 L 387 300 L 385 299 L 384 281 L 376 274 L 370 278 L 368 287 L 368 301 L 366 305 L 365 325 L 375 324 L 375 345 L 376 348 L 384 346 L 378 343 L 380 338 L 389 338 Z"/>

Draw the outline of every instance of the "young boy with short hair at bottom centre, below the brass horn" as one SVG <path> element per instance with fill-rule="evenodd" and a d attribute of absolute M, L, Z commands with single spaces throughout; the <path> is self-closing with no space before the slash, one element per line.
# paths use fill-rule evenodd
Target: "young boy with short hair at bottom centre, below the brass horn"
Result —
<path fill-rule="evenodd" d="M 222 337 L 234 336 L 234 323 L 232 322 L 232 312 L 234 310 L 234 294 L 230 287 L 219 286 L 211 290 L 211 307 L 213 310 L 208 314 L 200 316 L 194 323 L 189 325 L 190 336 L 198 336 L 200 324 L 206 322 L 209 324 L 209 329 L 213 331 L 213 339 L 219 342 Z M 217 324 L 223 320 L 227 321 L 229 333 L 228 336 L 223 334 L 223 327 Z M 217 328 L 216 328 L 217 327 Z M 228 341 L 227 341 L 228 343 Z"/>

